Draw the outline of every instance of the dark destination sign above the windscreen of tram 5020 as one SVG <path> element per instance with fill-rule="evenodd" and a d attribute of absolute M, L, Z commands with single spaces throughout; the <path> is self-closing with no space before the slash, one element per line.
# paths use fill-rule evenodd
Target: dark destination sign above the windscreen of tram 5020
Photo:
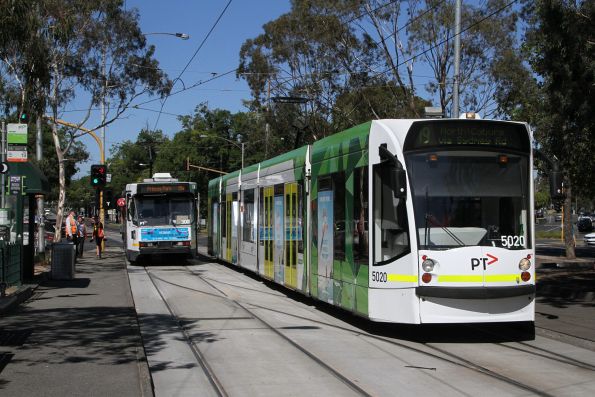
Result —
<path fill-rule="evenodd" d="M 432 120 L 413 123 L 404 150 L 445 146 L 492 146 L 529 151 L 523 124 L 487 120 Z"/>

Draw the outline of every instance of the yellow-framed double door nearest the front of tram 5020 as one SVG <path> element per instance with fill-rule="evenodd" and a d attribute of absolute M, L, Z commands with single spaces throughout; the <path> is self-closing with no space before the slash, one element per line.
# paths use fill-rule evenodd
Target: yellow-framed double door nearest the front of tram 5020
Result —
<path fill-rule="evenodd" d="M 298 186 L 297 183 L 285 184 L 285 285 L 297 287 L 297 249 L 298 249 Z"/>

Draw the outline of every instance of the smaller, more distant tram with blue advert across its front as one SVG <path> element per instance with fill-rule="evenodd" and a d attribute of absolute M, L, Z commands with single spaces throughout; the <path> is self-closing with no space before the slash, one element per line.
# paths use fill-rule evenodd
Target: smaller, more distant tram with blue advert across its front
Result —
<path fill-rule="evenodd" d="M 156 173 L 144 182 L 126 185 L 124 197 L 122 238 L 130 262 L 157 254 L 196 255 L 196 183 Z"/>

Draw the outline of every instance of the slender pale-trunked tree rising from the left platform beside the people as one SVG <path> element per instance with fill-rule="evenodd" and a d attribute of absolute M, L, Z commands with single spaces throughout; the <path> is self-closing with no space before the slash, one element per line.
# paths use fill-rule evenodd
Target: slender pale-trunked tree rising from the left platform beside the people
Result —
<path fill-rule="evenodd" d="M 62 220 L 65 202 L 65 154 L 85 133 L 79 128 L 90 121 L 92 109 L 106 108 L 105 116 L 88 130 L 95 131 L 117 120 L 131 102 L 143 94 L 166 95 L 171 82 L 153 59 L 153 47 L 138 27 L 138 14 L 126 10 L 122 0 L 45 0 L 40 1 L 45 28 L 51 82 L 47 95 L 51 118 L 58 119 L 61 107 L 85 92 L 89 106 L 77 128 L 65 129 L 60 140 L 53 124 L 52 134 L 58 158 L 60 194 L 57 222 Z M 56 240 L 60 239 L 56 233 Z"/>

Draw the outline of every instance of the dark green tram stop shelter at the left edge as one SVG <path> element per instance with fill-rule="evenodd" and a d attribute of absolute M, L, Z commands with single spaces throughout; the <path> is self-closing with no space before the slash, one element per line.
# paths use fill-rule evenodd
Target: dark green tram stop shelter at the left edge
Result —
<path fill-rule="evenodd" d="M 0 289 L 18 287 L 34 276 L 36 196 L 50 185 L 30 162 L 9 163 L 4 208 L 0 209 Z M 26 229 L 25 229 L 26 228 Z"/>

